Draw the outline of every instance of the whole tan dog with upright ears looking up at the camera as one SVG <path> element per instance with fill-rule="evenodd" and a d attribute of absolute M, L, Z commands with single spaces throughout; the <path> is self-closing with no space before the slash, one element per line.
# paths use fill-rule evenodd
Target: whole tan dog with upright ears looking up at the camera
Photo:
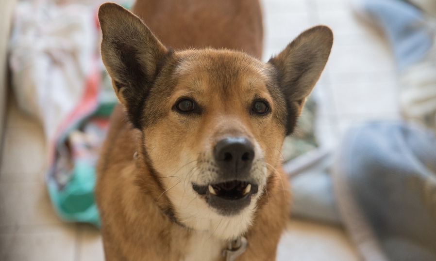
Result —
<path fill-rule="evenodd" d="M 240 21 L 251 22 L 242 28 L 258 28 L 257 1 L 228 2 L 254 2 L 246 6 L 254 11 L 224 10 L 212 15 L 225 20 L 211 19 L 212 28 L 233 34 L 232 19 L 244 15 Z M 333 34 L 326 26 L 308 29 L 265 63 L 258 60 L 262 44 L 250 43 L 261 40 L 262 29 L 245 34 L 245 43 L 222 35 L 226 28 L 207 31 L 203 19 L 195 30 L 219 35 L 208 42 L 198 32 L 199 41 L 187 46 L 177 37 L 188 39 L 189 30 L 177 24 L 164 33 L 173 28 L 169 21 L 151 21 L 169 48 L 123 7 L 99 9 L 101 57 L 120 102 L 97 167 L 108 261 L 275 260 L 290 200 L 280 151 L 324 69 Z"/>

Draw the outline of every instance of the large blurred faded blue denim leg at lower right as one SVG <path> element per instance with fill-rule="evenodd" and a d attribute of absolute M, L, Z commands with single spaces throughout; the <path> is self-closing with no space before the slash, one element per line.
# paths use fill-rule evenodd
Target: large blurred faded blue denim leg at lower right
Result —
<path fill-rule="evenodd" d="M 341 219 L 365 260 L 436 260 L 434 133 L 403 123 L 355 127 L 333 177 Z"/>

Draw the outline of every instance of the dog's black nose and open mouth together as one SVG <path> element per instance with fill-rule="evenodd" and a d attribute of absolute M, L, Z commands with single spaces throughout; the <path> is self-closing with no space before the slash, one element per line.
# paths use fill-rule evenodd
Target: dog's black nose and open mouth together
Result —
<path fill-rule="evenodd" d="M 213 155 L 220 173 L 216 182 L 192 184 L 192 188 L 205 195 L 206 202 L 221 215 L 236 215 L 250 205 L 251 195 L 259 189 L 251 175 L 253 145 L 243 137 L 223 138 L 215 145 Z"/>

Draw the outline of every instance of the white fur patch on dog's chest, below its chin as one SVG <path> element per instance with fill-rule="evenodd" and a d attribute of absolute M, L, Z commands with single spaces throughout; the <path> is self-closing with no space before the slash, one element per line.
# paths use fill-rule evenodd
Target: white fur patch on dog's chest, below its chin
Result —
<path fill-rule="evenodd" d="M 225 244 L 210 233 L 196 232 L 190 238 L 187 245 L 187 253 L 184 261 L 219 260 Z"/>

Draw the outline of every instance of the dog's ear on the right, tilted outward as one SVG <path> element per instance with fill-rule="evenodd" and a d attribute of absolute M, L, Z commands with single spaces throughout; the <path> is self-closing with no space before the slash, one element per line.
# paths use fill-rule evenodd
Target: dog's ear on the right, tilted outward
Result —
<path fill-rule="evenodd" d="M 278 74 L 281 91 L 288 109 L 300 115 L 304 101 L 317 83 L 329 58 L 333 33 L 326 26 L 316 26 L 302 32 L 279 55 L 271 58 Z M 293 126 L 288 123 L 286 135 Z"/>

